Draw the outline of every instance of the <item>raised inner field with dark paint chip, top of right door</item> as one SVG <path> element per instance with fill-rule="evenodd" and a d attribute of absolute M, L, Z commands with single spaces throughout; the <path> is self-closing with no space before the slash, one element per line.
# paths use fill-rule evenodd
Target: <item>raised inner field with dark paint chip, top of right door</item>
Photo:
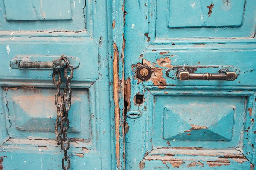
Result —
<path fill-rule="evenodd" d="M 244 18 L 244 0 L 170 0 L 169 28 L 234 27 Z"/>

